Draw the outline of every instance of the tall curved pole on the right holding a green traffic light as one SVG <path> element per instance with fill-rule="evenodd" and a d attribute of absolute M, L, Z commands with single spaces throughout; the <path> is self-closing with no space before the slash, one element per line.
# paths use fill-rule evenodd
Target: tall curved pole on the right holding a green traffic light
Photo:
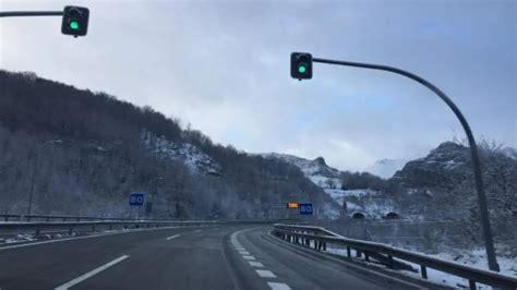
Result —
<path fill-rule="evenodd" d="M 321 62 L 321 63 L 328 63 L 328 64 L 338 64 L 338 65 L 346 65 L 346 67 L 356 67 L 356 68 L 363 68 L 363 69 L 372 69 L 372 70 L 380 70 L 380 71 L 388 71 L 397 74 L 401 74 L 404 76 L 407 76 L 429 89 L 433 90 L 434 94 L 436 94 L 447 106 L 453 110 L 453 112 L 456 114 L 458 118 L 459 122 L 461 123 L 461 126 L 465 130 L 465 133 L 467 134 L 467 138 L 469 141 L 469 146 L 470 146 L 470 154 L 472 156 L 472 167 L 473 167 L 473 174 L 474 174 L 474 180 L 476 180 L 476 190 L 478 192 L 478 204 L 479 204 L 479 209 L 480 209 L 480 217 L 481 217 L 481 225 L 483 228 L 483 234 L 485 239 L 485 247 L 486 247 L 486 257 L 489 261 L 489 268 L 491 270 L 498 271 L 500 267 L 497 265 L 497 261 L 495 257 L 495 250 L 494 250 L 494 242 L 492 238 L 492 230 L 490 228 L 490 220 L 489 220 L 489 210 L 486 206 L 486 196 L 484 194 L 484 186 L 483 186 L 483 178 L 481 176 L 481 162 L 479 160 L 479 154 L 478 154 L 478 146 L 476 145 L 476 140 L 472 135 L 472 131 L 470 130 L 470 125 L 467 122 L 467 119 L 465 119 L 464 114 L 461 111 L 458 109 L 458 107 L 453 102 L 453 100 L 447 97 L 440 88 L 437 88 L 435 85 L 431 84 L 430 82 L 423 80 L 422 77 L 397 69 L 397 68 L 392 68 L 387 65 L 380 65 L 380 64 L 370 64 L 370 63 L 360 63 L 360 62 L 351 62 L 351 61 L 337 61 L 337 60 L 327 60 L 327 59 L 318 59 L 318 58 L 313 58 L 313 62 Z"/>

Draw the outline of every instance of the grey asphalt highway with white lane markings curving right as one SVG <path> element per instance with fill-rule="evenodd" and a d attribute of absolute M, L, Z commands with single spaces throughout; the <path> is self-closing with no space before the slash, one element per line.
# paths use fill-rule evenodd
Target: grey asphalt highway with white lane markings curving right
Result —
<path fill-rule="evenodd" d="M 290 245 L 269 229 L 167 228 L 1 247 L 0 288 L 424 289 Z"/>

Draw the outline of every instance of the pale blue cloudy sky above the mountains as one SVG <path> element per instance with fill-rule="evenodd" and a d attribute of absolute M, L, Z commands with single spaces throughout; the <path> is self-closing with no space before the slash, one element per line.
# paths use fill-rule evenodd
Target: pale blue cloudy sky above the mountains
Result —
<path fill-rule="evenodd" d="M 459 140 L 431 90 L 388 72 L 292 51 L 397 67 L 445 92 L 476 137 L 517 147 L 517 1 L 5 1 L 0 11 L 91 10 L 88 35 L 61 17 L 0 20 L 0 68 L 151 106 L 250 153 L 323 156 L 341 170 L 425 156 Z"/>

